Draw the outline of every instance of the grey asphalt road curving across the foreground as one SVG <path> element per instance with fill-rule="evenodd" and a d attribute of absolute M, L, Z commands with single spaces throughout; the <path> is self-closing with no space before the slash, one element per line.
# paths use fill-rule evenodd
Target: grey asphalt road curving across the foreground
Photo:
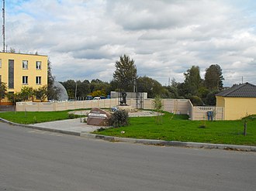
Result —
<path fill-rule="evenodd" d="M 104 142 L 0 123 L 0 190 L 255 190 L 256 153 Z"/>

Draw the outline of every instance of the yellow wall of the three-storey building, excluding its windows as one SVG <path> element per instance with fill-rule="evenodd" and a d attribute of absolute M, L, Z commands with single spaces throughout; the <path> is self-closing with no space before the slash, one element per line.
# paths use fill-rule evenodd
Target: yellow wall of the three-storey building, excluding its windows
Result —
<path fill-rule="evenodd" d="M 23 86 L 37 89 L 47 85 L 47 56 L 21 54 L 21 53 L 0 53 L 0 75 L 2 82 L 9 86 L 9 60 L 14 60 L 14 87 L 8 88 L 9 92 L 19 92 Z M 27 69 L 22 68 L 22 61 L 28 61 Z M 40 70 L 36 69 L 36 61 L 41 62 Z M 28 77 L 28 83 L 22 84 L 22 77 Z M 41 84 L 36 84 L 36 77 L 41 77 Z"/>

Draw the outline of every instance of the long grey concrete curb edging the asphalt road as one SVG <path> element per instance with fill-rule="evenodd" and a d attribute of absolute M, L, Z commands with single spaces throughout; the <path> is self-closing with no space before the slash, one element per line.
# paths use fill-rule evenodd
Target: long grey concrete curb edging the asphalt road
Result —
<path fill-rule="evenodd" d="M 217 148 L 225 150 L 234 150 L 234 151 L 244 151 L 244 152 L 256 152 L 256 146 L 247 146 L 247 145 L 225 145 L 225 144 L 213 144 L 213 143 L 202 143 L 202 142 L 176 142 L 176 141 L 161 141 L 154 139 L 137 139 L 137 138 L 119 138 L 112 137 L 107 135 L 96 135 L 87 132 L 74 132 L 74 131 L 64 131 L 60 129 L 53 128 L 42 128 L 36 125 L 28 124 L 17 124 L 3 118 L 0 118 L 0 121 L 6 124 L 16 125 L 22 128 L 33 128 L 41 131 L 50 131 L 57 132 L 66 135 L 75 135 L 81 136 L 82 138 L 94 138 L 101 139 L 108 142 L 129 142 L 135 144 L 144 144 L 144 145 L 158 145 L 158 146 L 176 146 L 176 147 L 189 147 L 189 148 Z"/>

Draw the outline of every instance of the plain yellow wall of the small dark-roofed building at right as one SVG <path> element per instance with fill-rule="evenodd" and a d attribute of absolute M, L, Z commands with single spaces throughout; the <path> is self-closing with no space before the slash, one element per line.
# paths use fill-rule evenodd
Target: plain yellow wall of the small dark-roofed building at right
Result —
<path fill-rule="evenodd" d="M 239 120 L 256 114 L 256 97 L 223 97 L 225 120 Z"/>

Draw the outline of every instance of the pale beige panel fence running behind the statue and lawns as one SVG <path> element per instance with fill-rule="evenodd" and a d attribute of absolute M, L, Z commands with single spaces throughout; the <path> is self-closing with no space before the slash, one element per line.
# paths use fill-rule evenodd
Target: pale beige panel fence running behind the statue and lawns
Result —
<path fill-rule="evenodd" d="M 144 109 L 153 110 L 153 99 L 144 99 Z M 127 99 L 126 103 L 136 107 L 136 99 Z M 66 111 L 92 107 L 110 108 L 117 106 L 118 98 L 92 101 L 65 102 L 18 102 L 16 111 Z M 187 99 L 163 99 L 164 111 L 175 114 L 188 114 L 191 120 L 208 120 L 207 111 L 213 111 L 214 120 L 224 120 L 223 107 L 194 107 Z"/>

